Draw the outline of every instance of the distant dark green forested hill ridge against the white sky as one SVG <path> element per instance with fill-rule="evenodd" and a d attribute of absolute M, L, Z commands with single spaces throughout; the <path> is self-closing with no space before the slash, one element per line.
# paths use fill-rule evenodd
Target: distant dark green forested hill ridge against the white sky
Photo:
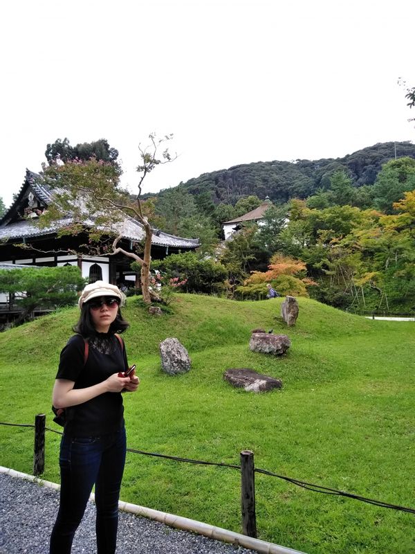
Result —
<path fill-rule="evenodd" d="M 236 204 L 244 196 L 266 196 L 275 204 L 291 198 L 305 199 L 320 188 L 330 188 L 330 177 L 344 170 L 353 186 L 371 186 L 384 163 L 395 157 L 415 158 L 415 145 L 409 141 L 378 143 L 342 158 L 294 161 L 258 161 L 228 169 L 203 173 L 179 185 L 193 196 L 209 193 L 214 204 Z M 160 191 L 157 196 L 163 196 Z M 153 195 L 145 195 L 149 197 Z"/>

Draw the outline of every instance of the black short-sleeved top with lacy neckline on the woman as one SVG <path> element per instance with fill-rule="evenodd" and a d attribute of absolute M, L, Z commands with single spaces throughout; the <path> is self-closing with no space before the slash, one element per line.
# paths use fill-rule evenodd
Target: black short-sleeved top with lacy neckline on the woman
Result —
<path fill-rule="evenodd" d="M 125 348 L 114 334 L 96 333 L 89 337 L 88 343 L 88 359 L 84 364 L 84 339 L 75 334 L 68 340 L 60 355 L 57 379 L 74 381 L 73 388 L 86 388 L 128 368 Z M 64 431 L 80 437 L 113 433 L 122 429 L 123 413 L 121 393 L 103 393 L 68 407 Z"/>

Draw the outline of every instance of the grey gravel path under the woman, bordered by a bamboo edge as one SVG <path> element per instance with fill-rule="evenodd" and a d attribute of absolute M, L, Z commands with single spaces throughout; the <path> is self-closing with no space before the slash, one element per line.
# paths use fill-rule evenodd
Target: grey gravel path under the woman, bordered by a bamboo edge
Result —
<path fill-rule="evenodd" d="M 47 554 L 58 504 L 59 492 L 0 474 L 0 554 Z M 89 502 L 72 553 L 95 552 L 95 506 Z M 120 512 L 117 554 L 257 553 Z"/>

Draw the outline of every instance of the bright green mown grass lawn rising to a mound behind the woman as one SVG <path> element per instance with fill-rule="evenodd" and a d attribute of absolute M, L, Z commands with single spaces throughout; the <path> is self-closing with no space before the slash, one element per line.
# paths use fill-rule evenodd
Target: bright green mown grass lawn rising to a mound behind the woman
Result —
<path fill-rule="evenodd" d="M 129 447 L 255 466 L 303 481 L 415 508 L 415 323 L 373 321 L 299 298 L 287 329 L 281 298 L 237 303 L 181 294 L 172 314 L 150 316 L 129 298 L 129 361 L 141 385 L 125 395 Z M 52 422 L 59 352 L 77 309 L 0 334 L 0 421 Z M 250 352 L 250 331 L 288 334 L 285 357 Z M 160 368 L 158 343 L 177 337 L 192 358 L 186 375 Z M 246 393 L 223 380 L 231 367 L 279 377 L 281 391 Z M 44 478 L 59 482 L 59 436 L 46 435 Z M 0 465 L 31 473 L 33 430 L 0 426 Z M 317 494 L 256 474 L 259 538 L 309 554 L 415 552 L 415 516 Z M 122 500 L 241 531 L 240 475 L 127 454 Z"/>

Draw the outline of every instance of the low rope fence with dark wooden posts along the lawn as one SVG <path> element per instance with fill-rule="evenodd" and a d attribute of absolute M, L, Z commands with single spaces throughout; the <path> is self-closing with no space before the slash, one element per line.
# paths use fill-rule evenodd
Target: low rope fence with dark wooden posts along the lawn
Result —
<path fill-rule="evenodd" d="M 0 422 L 0 425 L 8 425 L 10 427 L 33 427 L 35 429 L 35 449 L 33 454 L 33 474 L 39 476 L 44 472 L 45 463 L 45 431 L 51 431 L 58 435 L 62 435 L 62 431 L 51 429 L 46 427 L 46 415 L 38 414 L 35 416 L 35 425 L 22 424 L 22 423 L 8 423 Z M 257 537 L 256 528 L 256 515 L 255 515 L 255 473 L 264 474 L 277 479 L 282 479 L 297 487 L 310 490 L 312 492 L 320 492 L 322 494 L 331 494 L 333 496 L 349 498 L 378 506 L 379 508 L 389 508 L 391 510 L 398 510 L 400 512 L 408 512 L 415 514 L 415 508 L 407 508 L 405 506 L 398 506 L 388 502 L 380 500 L 370 499 L 362 497 L 358 494 L 352 494 L 351 492 L 345 492 L 343 490 L 337 490 L 322 485 L 316 485 L 315 483 L 308 483 L 293 477 L 287 477 L 279 475 L 267 470 L 261 470 L 254 465 L 254 454 L 250 450 L 243 450 L 240 453 L 241 465 L 228 464 L 223 462 L 210 462 L 203 460 L 194 460 L 192 458 L 182 458 L 180 456 L 169 456 L 167 454 L 157 454 L 156 452 L 145 452 L 143 450 L 137 450 L 133 448 L 127 448 L 127 452 L 132 454 L 140 454 L 142 456 L 154 456 L 156 458 L 165 458 L 176 462 L 192 463 L 198 465 L 214 465 L 217 467 L 229 467 L 232 470 L 239 470 L 241 472 L 241 516 L 243 534 L 248 537 Z"/>

